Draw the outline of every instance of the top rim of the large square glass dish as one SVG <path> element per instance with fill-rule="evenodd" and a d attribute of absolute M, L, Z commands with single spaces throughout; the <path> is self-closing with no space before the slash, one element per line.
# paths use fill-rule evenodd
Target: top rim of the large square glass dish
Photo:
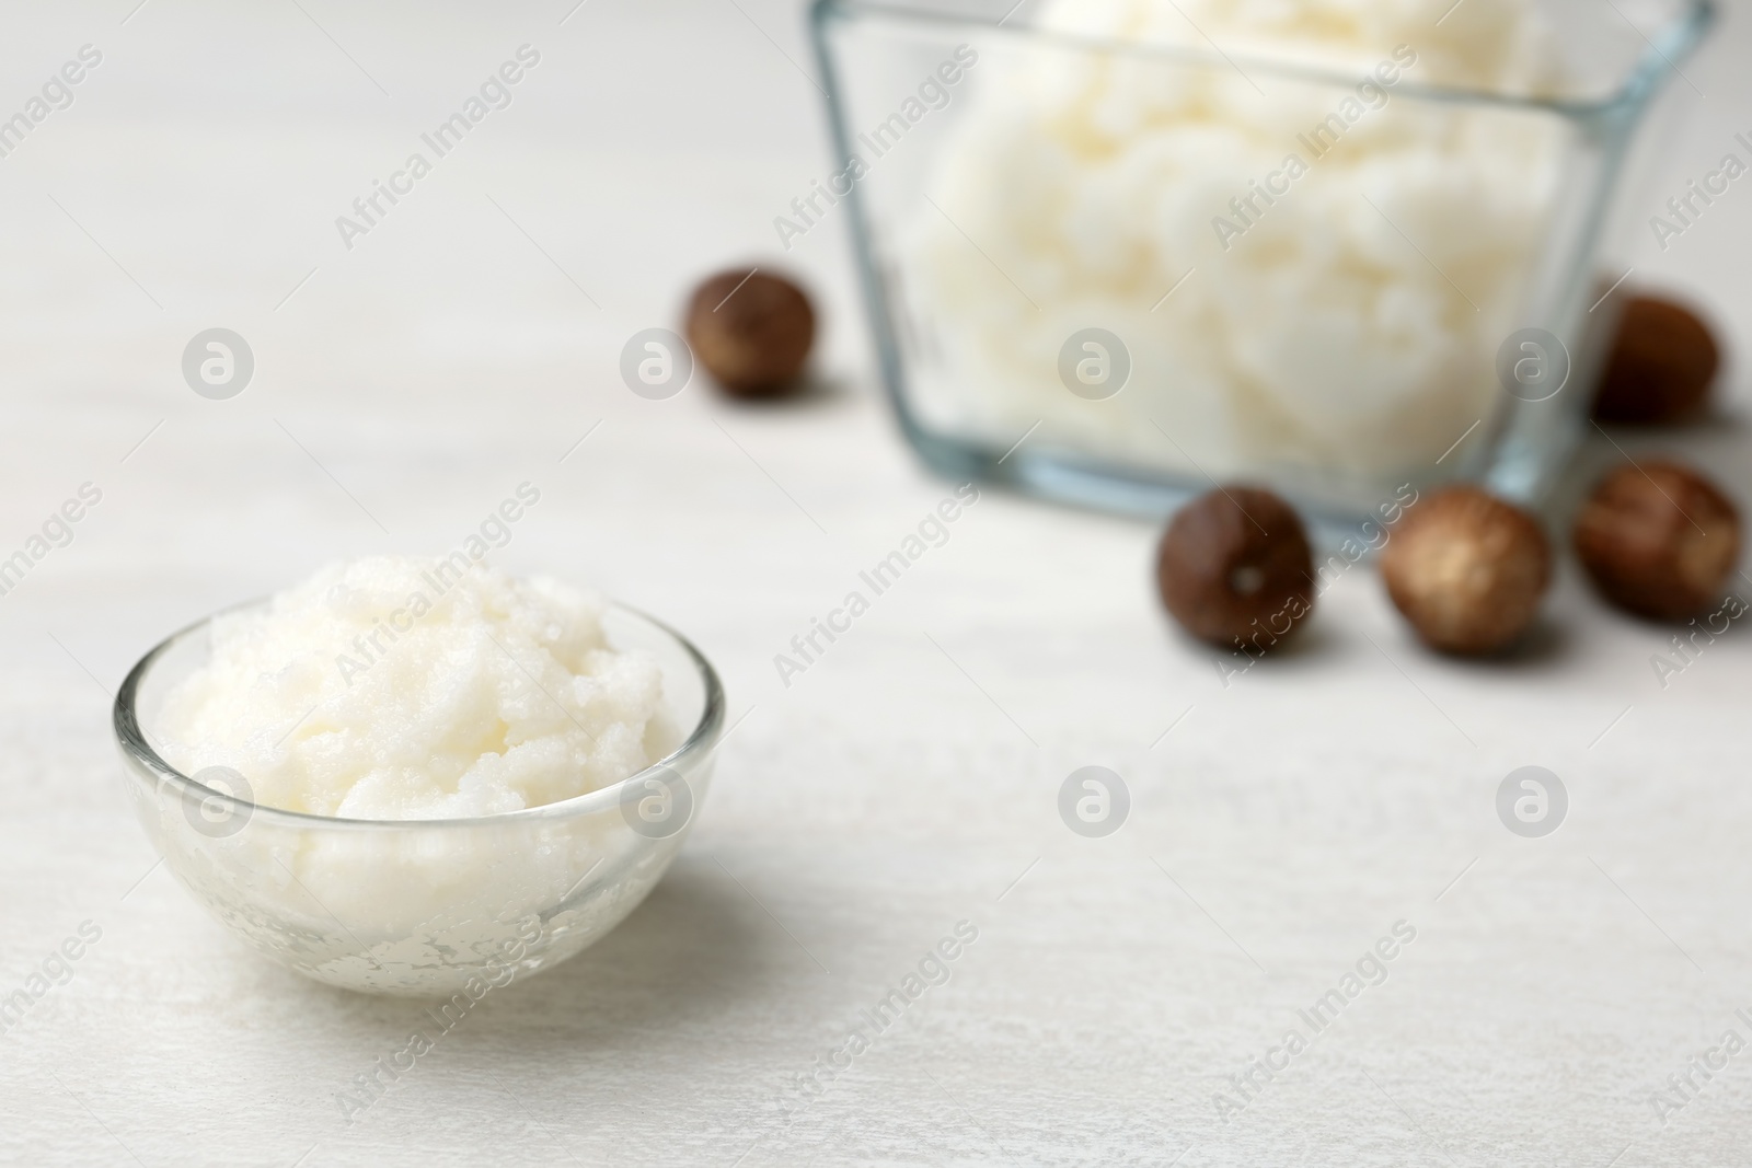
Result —
<path fill-rule="evenodd" d="M 1055 40 L 1067 47 L 1084 51 L 1160 56 L 1177 60 L 1181 63 L 1218 67 L 1228 65 L 1237 70 L 1240 68 L 1237 61 L 1240 61 L 1249 68 L 1258 68 L 1289 81 L 1340 88 L 1356 84 L 1356 77 L 1353 74 L 1323 68 L 1319 65 L 1303 65 L 1253 53 L 1230 54 L 1221 49 L 1207 53 L 1204 49 L 1083 37 L 1042 28 L 1006 28 L 993 19 L 955 12 L 936 12 L 925 7 L 916 7 L 909 0 L 813 0 L 809 5 L 809 23 L 816 32 L 820 32 L 829 19 L 853 19 L 860 16 L 892 19 L 897 23 L 936 25 L 941 28 L 978 28 L 986 33 L 999 33 L 1006 37 Z M 1636 107 L 1647 100 L 1656 91 L 1663 74 L 1677 74 L 1680 61 L 1691 56 L 1691 53 L 1703 42 L 1703 37 L 1715 25 L 1719 16 L 1720 9 L 1717 0 L 1684 0 L 1673 19 L 1663 25 L 1652 39 L 1643 35 L 1642 30 L 1636 30 L 1638 35 L 1643 37 L 1643 44 L 1647 47 L 1636 56 L 1636 61 L 1624 74 L 1622 81 L 1601 98 L 1537 98 L 1491 93 L 1487 89 L 1465 89 L 1459 86 L 1430 86 L 1414 81 L 1400 81 L 1395 93 L 1433 102 L 1472 102 L 1507 105 L 1514 109 L 1533 109 L 1565 117 L 1612 114 L 1624 107 Z M 816 47 L 818 54 L 825 56 L 825 46 L 818 44 Z M 834 86 L 829 86 L 830 93 L 834 93 Z"/>

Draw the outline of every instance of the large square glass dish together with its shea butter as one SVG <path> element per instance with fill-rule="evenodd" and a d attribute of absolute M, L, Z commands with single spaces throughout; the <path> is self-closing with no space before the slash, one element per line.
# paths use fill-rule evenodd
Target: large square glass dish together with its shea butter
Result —
<path fill-rule="evenodd" d="M 816 0 L 832 166 L 927 462 L 1162 515 L 1538 503 L 1621 298 L 1619 177 L 1705 0 Z M 1647 229 L 1638 222 L 1638 229 Z"/>

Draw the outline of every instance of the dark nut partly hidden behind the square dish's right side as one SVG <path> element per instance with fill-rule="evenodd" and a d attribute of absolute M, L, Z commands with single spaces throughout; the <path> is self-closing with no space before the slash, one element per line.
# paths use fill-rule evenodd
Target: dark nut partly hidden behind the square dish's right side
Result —
<path fill-rule="evenodd" d="M 1694 312 L 1638 296 L 1619 320 L 1594 417 L 1642 426 L 1682 419 L 1710 396 L 1719 364 L 1715 338 Z"/>

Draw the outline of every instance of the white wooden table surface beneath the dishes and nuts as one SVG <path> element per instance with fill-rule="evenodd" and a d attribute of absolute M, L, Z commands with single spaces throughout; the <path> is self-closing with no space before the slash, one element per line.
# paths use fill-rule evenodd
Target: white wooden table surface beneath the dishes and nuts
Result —
<path fill-rule="evenodd" d="M 1456 664 L 1358 569 L 1225 690 L 1158 609 L 1151 527 L 988 490 L 783 688 L 771 657 L 951 489 L 876 396 L 844 224 L 783 257 L 825 312 L 816 398 L 650 403 L 615 361 L 704 270 L 773 256 L 771 215 L 825 173 L 799 5 L 133 5 L 19 4 L 0 39 L 0 110 L 103 53 L 0 163 L 0 546 L 103 492 L 0 597 L 0 995 L 102 928 L 0 1038 L 0 1161 L 1752 1159 L 1752 1052 L 1664 1128 L 1650 1107 L 1752 1038 L 1743 630 L 1663 690 L 1666 634 L 1566 564 L 1535 651 Z M 524 42 L 512 109 L 345 250 L 333 217 Z M 1687 67 L 1706 96 L 1650 207 L 1752 126 L 1748 46 L 1729 11 Z M 1748 238 L 1736 186 L 1626 263 L 1745 352 Z M 256 352 L 231 401 L 179 375 L 210 326 Z M 1733 361 L 1720 422 L 1633 448 L 1752 501 L 1745 398 Z M 494 559 L 668 616 L 746 721 L 652 898 L 349 1126 L 335 1091 L 420 1007 L 268 965 L 152 867 L 110 693 L 170 629 L 450 546 L 526 478 L 543 501 Z M 1090 763 L 1134 797 L 1104 841 L 1055 811 Z M 1544 841 L 1493 809 L 1526 763 L 1573 800 Z M 951 979 L 787 1124 L 792 1080 L 962 919 Z M 1219 1122 L 1212 1094 L 1398 919 L 1388 981 Z"/>

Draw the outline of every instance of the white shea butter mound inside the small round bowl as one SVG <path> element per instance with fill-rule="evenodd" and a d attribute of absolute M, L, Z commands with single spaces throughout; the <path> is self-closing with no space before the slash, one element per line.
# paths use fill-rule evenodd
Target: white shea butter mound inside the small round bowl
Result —
<path fill-rule="evenodd" d="M 583 795 L 675 739 L 659 664 L 610 648 L 603 609 L 484 566 L 333 564 L 215 618 L 158 737 L 184 774 L 231 767 L 258 804 L 322 816 L 454 820 Z"/>

